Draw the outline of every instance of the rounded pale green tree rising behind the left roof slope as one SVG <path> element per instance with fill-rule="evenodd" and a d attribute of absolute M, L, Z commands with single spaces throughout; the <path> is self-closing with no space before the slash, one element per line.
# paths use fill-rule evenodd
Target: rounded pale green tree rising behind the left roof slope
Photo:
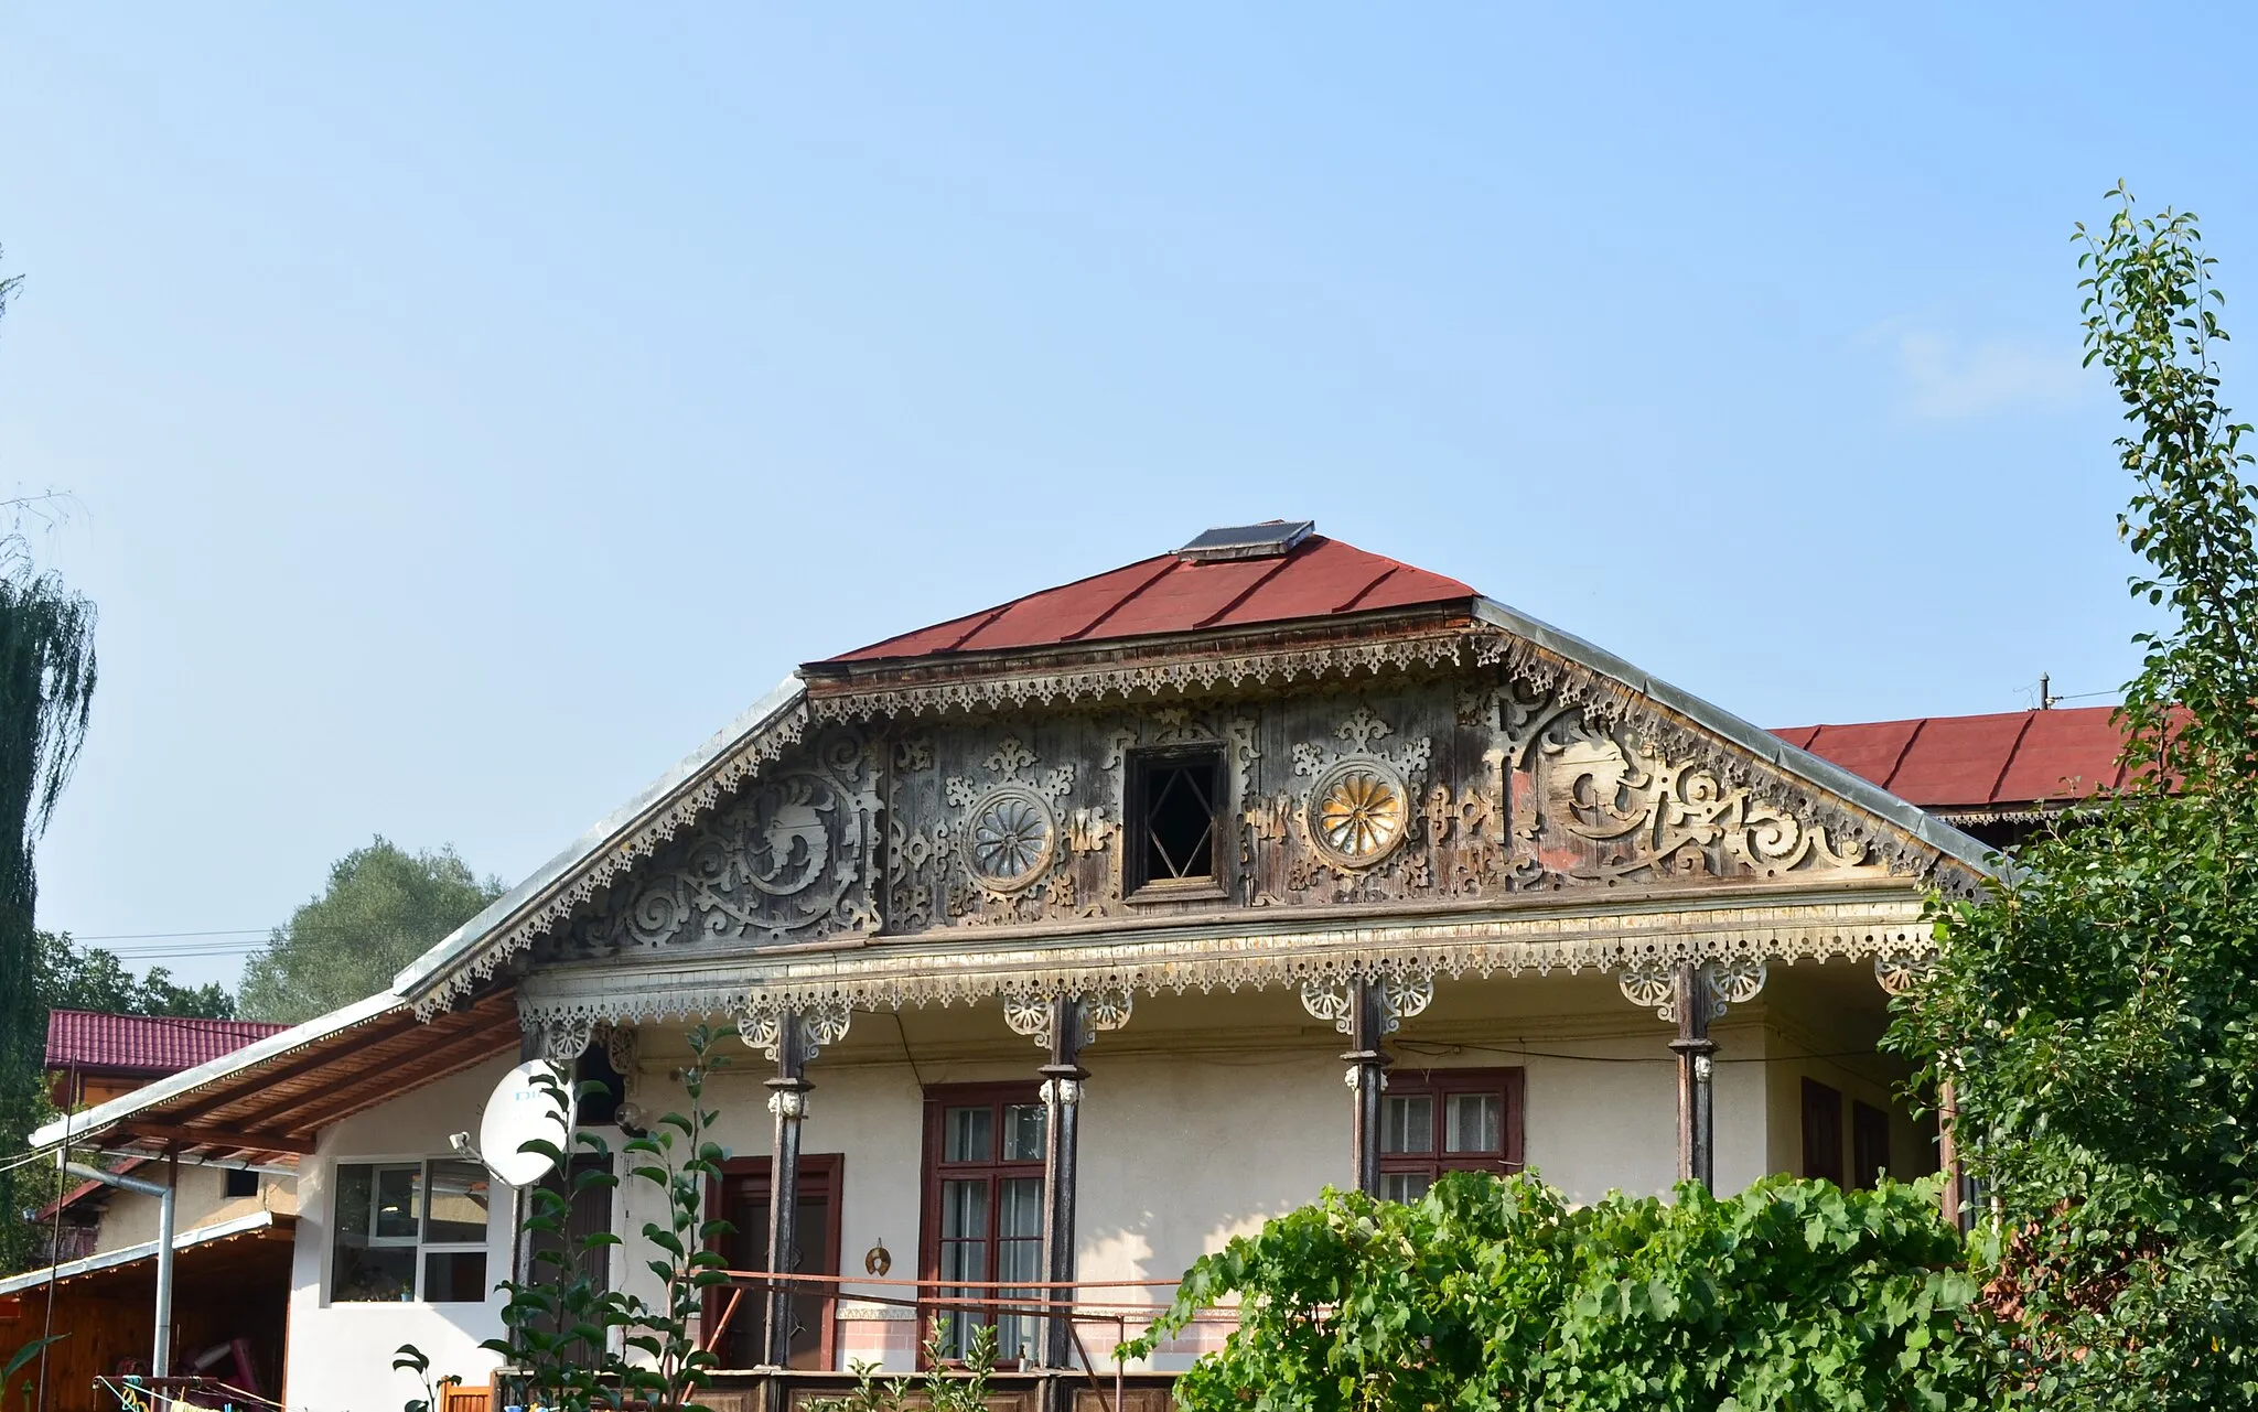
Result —
<path fill-rule="evenodd" d="M 368 999 L 400 967 L 501 897 L 452 847 L 411 854 L 382 836 L 330 865 L 330 886 L 244 967 L 244 1019 L 303 1021 Z"/>

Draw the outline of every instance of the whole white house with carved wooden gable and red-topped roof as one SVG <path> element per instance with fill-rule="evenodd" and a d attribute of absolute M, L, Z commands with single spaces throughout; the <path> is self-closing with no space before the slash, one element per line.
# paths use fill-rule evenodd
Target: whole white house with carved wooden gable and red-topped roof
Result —
<path fill-rule="evenodd" d="M 1185 1265 L 1325 1186 L 1935 1170 L 1876 1041 L 1928 899 L 1985 877 L 1969 834 L 1463 583 L 1242 526 L 802 666 L 388 994 L 72 1134 L 296 1163 L 287 1401 L 388 1412 L 402 1342 L 495 1367 L 517 1197 L 449 1141 L 495 1082 L 605 1078 L 583 1121 L 616 1145 L 718 1028 L 723 1254 L 844 1283 L 718 1292 L 707 1401 L 908 1371 L 937 1313 L 1064 1407 Z M 574 1215 L 644 1295 L 655 1204 Z"/>

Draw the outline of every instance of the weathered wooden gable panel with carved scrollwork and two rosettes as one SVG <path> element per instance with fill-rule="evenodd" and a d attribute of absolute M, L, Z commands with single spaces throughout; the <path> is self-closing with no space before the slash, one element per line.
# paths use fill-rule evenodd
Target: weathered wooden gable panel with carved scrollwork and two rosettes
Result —
<path fill-rule="evenodd" d="M 1215 764 L 1206 886 L 1138 888 L 1131 777 Z M 1917 872 L 1901 831 L 1569 673 L 835 725 L 619 879 L 555 949 L 1499 906 Z M 1199 879 L 1192 879 L 1199 883 Z M 555 949 L 551 953 L 555 953 Z"/>

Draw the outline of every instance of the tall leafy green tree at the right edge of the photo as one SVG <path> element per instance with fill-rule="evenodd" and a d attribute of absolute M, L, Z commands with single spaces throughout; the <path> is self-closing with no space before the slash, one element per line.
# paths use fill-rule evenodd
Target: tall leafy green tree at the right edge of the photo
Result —
<path fill-rule="evenodd" d="M 2258 495 L 2220 400 L 2195 217 L 2120 185 L 2086 230 L 2086 361 L 2132 429 L 2120 533 L 2165 610 L 2120 714 L 2134 784 L 1940 919 L 1890 1044 L 1953 1087 L 1996 1211 L 2012 1392 L 2046 1407 L 2258 1405 Z"/>

